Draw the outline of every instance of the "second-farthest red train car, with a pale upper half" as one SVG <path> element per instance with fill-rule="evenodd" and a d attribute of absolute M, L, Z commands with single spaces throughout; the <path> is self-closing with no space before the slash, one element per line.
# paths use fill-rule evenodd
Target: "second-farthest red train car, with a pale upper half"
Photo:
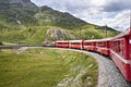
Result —
<path fill-rule="evenodd" d="M 72 49 L 82 49 L 83 48 L 83 40 L 70 40 L 69 48 Z"/>

